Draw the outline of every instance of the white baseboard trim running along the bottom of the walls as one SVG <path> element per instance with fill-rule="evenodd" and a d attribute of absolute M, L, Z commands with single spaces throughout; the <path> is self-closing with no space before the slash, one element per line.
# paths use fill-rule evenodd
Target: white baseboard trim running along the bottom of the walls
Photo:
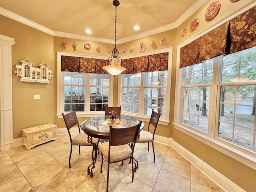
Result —
<path fill-rule="evenodd" d="M 70 130 L 72 134 L 78 133 L 77 129 Z M 58 128 L 57 129 L 57 135 L 65 135 L 68 134 L 67 128 Z M 17 138 L 13 140 L 13 147 L 21 146 L 22 145 L 23 138 Z M 168 146 L 171 146 L 174 150 L 176 150 L 181 156 L 183 156 L 186 160 L 188 160 L 191 164 L 193 164 L 198 170 L 200 170 L 202 173 L 204 173 L 206 176 L 208 176 L 215 184 L 220 186 L 222 190 L 229 192 L 246 192 L 242 188 L 240 188 L 238 185 L 236 185 L 234 182 L 226 178 L 224 175 L 220 174 L 218 171 L 216 171 L 214 168 L 206 164 L 204 161 L 202 161 L 200 158 L 192 154 L 190 151 L 186 150 L 184 147 L 182 147 L 177 142 L 173 141 L 172 138 L 166 138 L 163 136 L 155 135 L 154 141 L 165 144 Z"/>

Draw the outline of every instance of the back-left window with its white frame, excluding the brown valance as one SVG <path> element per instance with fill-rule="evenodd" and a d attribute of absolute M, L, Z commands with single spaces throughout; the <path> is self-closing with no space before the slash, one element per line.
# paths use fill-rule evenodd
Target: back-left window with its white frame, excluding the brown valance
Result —
<path fill-rule="evenodd" d="M 112 96 L 113 78 L 109 74 L 61 71 L 62 55 L 85 57 L 58 52 L 58 118 L 62 118 L 62 112 L 74 109 L 78 117 L 104 114 L 104 107 L 112 105 L 109 98 Z"/>

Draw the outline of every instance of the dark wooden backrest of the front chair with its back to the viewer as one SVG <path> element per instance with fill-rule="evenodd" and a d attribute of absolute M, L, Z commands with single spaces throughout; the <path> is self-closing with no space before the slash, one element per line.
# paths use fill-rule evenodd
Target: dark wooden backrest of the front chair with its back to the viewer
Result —
<path fill-rule="evenodd" d="M 138 138 L 138 133 L 140 130 L 140 124 L 127 128 L 112 128 L 112 125 L 109 126 L 109 146 L 124 145 L 128 143 L 135 142 Z"/>

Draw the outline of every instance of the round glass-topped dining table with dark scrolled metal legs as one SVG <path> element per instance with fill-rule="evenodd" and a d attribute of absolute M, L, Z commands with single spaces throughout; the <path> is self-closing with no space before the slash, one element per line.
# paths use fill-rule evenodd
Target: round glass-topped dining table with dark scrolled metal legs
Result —
<path fill-rule="evenodd" d="M 90 166 L 88 167 L 87 174 L 91 177 L 93 177 L 93 171 L 92 169 L 95 168 L 96 160 L 97 160 L 97 152 L 98 150 L 98 143 L 93 143 L 92 138 L 99 138 L 100 142 L 106 142 L 109 139 L 109 126 L 111 125 L 112 128 L 127 128 L 127 127 L 132 127 L 140 124 L 140 120 L 131 116 L 126 116 L 126 115 L 120 115 L 116 116 L 116 122 L 110 122 L 111 116 L 97 116 L 93 117 L 90 119 L 85 120 L 84 122 L 81 123 L 81 129 L 88 135 L 88 142 L 91 142 L 93 144 L 93 150 L 95 156 L 92 157 L 92 168 L 90 169 Z M 144 128 L 144 122 L 142 121 L 140 125 L 140 131 Z M 136 168 L 138 169 L 138 161 L 135 160 L 133 162 L 136 164 Z"/>

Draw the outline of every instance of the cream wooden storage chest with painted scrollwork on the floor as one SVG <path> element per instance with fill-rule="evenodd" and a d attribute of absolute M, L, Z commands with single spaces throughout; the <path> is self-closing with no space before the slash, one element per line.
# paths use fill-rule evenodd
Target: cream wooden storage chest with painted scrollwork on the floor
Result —
<path fill-rule="evenodd" d="M 36 145 L 55 140 L 57 126 L 51 123 L 22 129 L 23 145 L 31 149 Z"/>

